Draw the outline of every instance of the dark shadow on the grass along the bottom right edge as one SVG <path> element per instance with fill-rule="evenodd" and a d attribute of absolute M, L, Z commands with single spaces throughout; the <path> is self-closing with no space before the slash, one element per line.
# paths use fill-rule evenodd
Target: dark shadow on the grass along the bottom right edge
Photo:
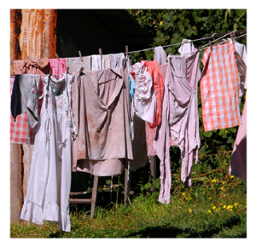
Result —
<path fill-rule="evenodd" d="M 225 221 L 220 227 L 211 227 L 208 225 L 203 231 L 195 232 L 193 229 L 181 229 L 166 225 L 163 227 L 146 227 L 137 233 L 131 233 L 125 238 L 212 238 L 214 234 L 221 232 L 224 227 L 234 227 L 239 225 L 241 220 L 239 217 L 233 217 Z M 236 238 L 247 238 L 246 233 L 236 235 Z"/>

